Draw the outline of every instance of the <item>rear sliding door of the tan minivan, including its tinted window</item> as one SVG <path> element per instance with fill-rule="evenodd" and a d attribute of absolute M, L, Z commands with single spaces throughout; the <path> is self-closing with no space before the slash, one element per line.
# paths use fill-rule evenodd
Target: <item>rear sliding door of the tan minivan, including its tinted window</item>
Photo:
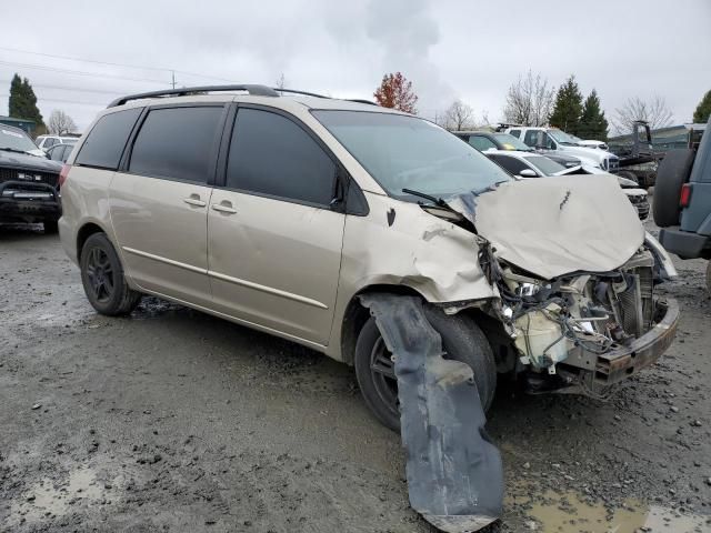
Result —
<path fill-rule="evenodd" d="M 209 306 L 208 205 L 222 105 L 159 107 L 113 177 L 111 221 L 127 273 L 143 290 Z"/>

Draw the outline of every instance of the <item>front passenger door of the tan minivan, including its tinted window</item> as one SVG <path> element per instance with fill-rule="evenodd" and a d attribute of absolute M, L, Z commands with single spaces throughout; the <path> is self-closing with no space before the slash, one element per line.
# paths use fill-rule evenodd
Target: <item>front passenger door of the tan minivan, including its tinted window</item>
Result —
<path fill-rule="evenodd" d="M 306 127 L 240 108 L 208 212 L 216 310 L 328 343 L 346 219 L 330 208 L 336 169 Z"/>

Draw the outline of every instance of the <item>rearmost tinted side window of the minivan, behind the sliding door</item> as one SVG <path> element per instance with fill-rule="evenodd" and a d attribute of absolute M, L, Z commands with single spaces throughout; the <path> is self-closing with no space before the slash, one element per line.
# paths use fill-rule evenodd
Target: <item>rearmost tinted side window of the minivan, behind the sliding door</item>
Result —
<path fill-rule="evenodd" d="M 74 163 L 116 170 L 140 113 L 140 108 L 133 108 L 101 117 L 81 145 Z"/>

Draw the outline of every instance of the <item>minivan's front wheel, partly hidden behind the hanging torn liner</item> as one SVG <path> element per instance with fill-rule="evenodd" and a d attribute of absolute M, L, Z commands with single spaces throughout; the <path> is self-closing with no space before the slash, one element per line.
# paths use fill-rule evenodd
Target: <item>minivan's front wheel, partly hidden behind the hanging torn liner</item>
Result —
<path fill-rule="evenodd" d="M 441 310 L 429 306 L 424 311 L 432 328 L 442 336 L 448 356 L 469 364 L 474 371 L 479 396 L 484 412 L 488 411 L 497 389 L 497 365 L 489 341 L 469 316 L 448 316 Z M 400 411 L 394 371 L 388 376 L 373 370 L 371 364 L 378 355 L 383 354 L 389 360 L 390 352 L 384 348 L 375 319 L 371 316 L 361 329 L 356 343 L 356 376 L 365 405 L 383 425 L 399 432 Z M 392 370 L 392 363 L 390 365 Z"/>

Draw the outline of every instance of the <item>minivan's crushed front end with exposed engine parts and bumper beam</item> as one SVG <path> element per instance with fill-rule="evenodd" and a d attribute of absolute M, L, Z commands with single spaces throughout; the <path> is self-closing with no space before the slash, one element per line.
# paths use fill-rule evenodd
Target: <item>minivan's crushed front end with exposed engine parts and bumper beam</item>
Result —
<path fill-rule="evenodd" d="M 679 306 L 655 294 L 665 274 L 647 245 L 614 271 L 550 281 L 485 254 L 487 247 L 480 260 L 501 293 L 495 312 L 530 392 L 603 395 L 608 385 L 653 364 L 673 341 Z"/>

